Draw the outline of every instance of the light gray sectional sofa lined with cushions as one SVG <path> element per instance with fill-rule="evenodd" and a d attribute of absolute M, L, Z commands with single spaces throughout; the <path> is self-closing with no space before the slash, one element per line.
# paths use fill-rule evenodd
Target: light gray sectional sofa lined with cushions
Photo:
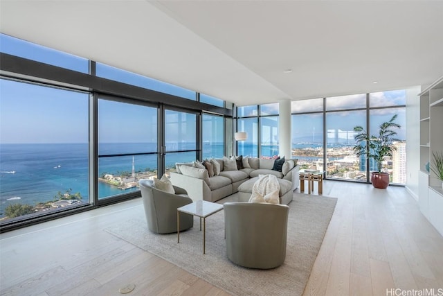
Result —
<path fill-rule="evenodd" d="M 238 187 L 258 175 L 272 174 L 292 183 L 292 190 L 300 184 L 298 159 L 287 159 L 280 162 L 281 170 L 275 170 L 275 159 L 245 157 L 237 159 L 237 166 L 232 166 L 232 159 L 211 159 L 219 164 L 220 172 L 209 177 L 206 167 L 198 162 L 178 163 L 177 172 L 170 173 L 171 182 L 188 191 L 192 200 L 207 200 L 215 202 L 228 195 L 236 193 Z M 282 159 L 280 159 L 282 161 Z M 242 165 L 243 164 L 243 165 Z M 198 167 L 197 167 L 198 166 Z M 274 168 L 274 169 L 273 169 Z"/>

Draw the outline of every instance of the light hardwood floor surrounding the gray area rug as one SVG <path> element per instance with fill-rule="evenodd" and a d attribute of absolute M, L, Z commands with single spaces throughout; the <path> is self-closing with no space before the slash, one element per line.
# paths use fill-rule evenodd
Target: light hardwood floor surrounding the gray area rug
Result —
<path fill-rule="evenodd" d="M 406 189 L 325 181 L 323 195 L 338 202 L 305 295 L 443 289 L 443 238 Z M 134 216 L 141 199 L 1 234 L 0 294 L 228 295 L 103 231 Z"/>

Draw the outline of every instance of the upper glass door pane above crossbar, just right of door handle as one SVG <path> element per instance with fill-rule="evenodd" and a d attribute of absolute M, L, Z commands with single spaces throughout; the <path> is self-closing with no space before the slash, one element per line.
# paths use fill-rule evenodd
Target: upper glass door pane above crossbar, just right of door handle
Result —
<path fill-rule="evenodd" d="M 197 150 L 196 123 L 196 114 L 165 110 L 166 151 Z"/>

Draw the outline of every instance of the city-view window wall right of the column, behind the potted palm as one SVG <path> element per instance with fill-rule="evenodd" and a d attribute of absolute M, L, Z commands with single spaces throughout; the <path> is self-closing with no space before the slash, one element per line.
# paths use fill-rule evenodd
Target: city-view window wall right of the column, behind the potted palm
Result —
<path fill-rule="evenodd" d="M 391 159 L 385 159 L 383 170 L 390 173 L 392 184 L 405 184 L 405 105 L 404 90 L 293 101 L 292 155 L 299 158 L 302 168 L 324 171 L 329 179 L 370 182 L 369 173 L 377 168 L 373 159 L 354 154 L 354 126 L 378 134 L 379 125 L 397 114 L 396 122 L 401 125 L 394 143 L 397 150 Z M 320 140 L 323 130 L 325 142 Z"/>

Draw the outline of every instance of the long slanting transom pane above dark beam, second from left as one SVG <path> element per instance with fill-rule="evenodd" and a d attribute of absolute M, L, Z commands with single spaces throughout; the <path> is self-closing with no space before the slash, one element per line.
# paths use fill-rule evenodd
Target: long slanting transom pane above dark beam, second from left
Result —
<path fill-rule="evenodd" d="M 156 92 L 163 92 L 165 94 L 172 94 L 173 96 L 180 96 L 181 98 L 188 98 L 192 101 L 196 100 L 196 92 L 192 92 L 189 89 L 156 80 L 154 78 L 141 76 L 122 69 L 114 68 L 100 62 L 96 63 L 96 75 L 98 77 L 127 83 L 128 85 L 144 87 L 146 89 L 152 89 Z"/>

